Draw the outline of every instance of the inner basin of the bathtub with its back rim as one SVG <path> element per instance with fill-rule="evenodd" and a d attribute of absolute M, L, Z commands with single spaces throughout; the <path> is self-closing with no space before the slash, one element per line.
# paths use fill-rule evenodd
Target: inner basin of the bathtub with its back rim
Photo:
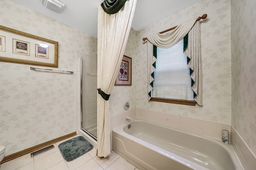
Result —
<path fill-rule="evenodd" d="M 234 160 L 238 161 L 238 159 L 232 156 L 234 153 L 232 153 L 231 145 L 225 145 L 221 141 L 184 133 L 162 125 L 142 121 L 141 119 L 135 119 L 130 124 L 130 129 L 128 129 L 127 125 L 123 125 L 119 127 L 119 132 L 116 129 L 113 132 L 120 134 L 123 131 L 125 133 L 122 135 L 128 139 L 134 139 L 139 143 L 144 141 L 152 145 L 152 148 L 156 146 L 156 150 L 162 149 L 164 150 L 162 152 L 166 152 L 162 154 L 168 155 L 171 153 L 180 156 L 206 169 L 242 169 L 240 164 L 234 162 Z M 113 136 L 117 135 L 116 133 L 113 133 Z M 113 137 L 113 144 L 115 140 L 121 140 L 120 136 L 118 137 L 119 139 Z M 126 145 L 124 147 L 129 150 L 129 144 L 127 143 Z"/>

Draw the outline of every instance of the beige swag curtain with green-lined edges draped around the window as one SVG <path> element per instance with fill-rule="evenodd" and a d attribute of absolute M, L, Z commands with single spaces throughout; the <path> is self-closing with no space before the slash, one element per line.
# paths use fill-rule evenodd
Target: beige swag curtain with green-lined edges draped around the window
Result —
<path fill-rule="evenodd" d="M 148 93 L 151 92 L 152 86 L 150 86 L 150 83 L 154 80 L 152 78 L 151 74 L 154 72 L 155 68 L 152 66 L 152 64 L 156 61 L 156 58 L 153 56 L 153 45 L 156 47 L 162 47 L 162 48 L 169 48 L 176 43 L 178 43 L 182 38 L 185 37 L 186 34 L 189 33 L 189 41 L 188 43 L 188 49 L 186 49 L 185 55 L 187 55 L 190 58 L 190 62 L 188 66 L 193 71 L 193 74 L 191 75 L 191 78 L 198 82 L 195 83 L 192 86 L 192 89 L 194 92 L 198 95 L 196 96 L 195 101 L 202 106 L 202 66 L 201 66 L 201 47 L 200 47 L 200 32 L 199 32 L 199 21 L 196 21 L 197 18 L 194 18 L 192 20 L 189 20 L 187 22 L 184 22 L 180 25 L 178 25 L 175 29 L 171 30 L 167 34 L 160 34 L 156 33 L 154 35 L 150 35 L 147 37 L 148 39 Z M 194 24 L 197 23 L 198 28 L 193 28 Z M 193 29 L 192 29 L 193 28 Z M 191 34 L 190 32 L 196 32 L 194 29 L 198 30 L 198 33 Z M 193 30 L 193 31 L 190 31 Z M 195 43 L 192 43 L 195 42 Z M 194 50 L 194 46 L 197 46 Z M 197 50 L 197 51 L 196 51 Z M 193 69 L 194 68 L 194 69 Z M 198 86 L 199 85 L 199 86 Z M 150 96 L 148 96 L 148 100 L 150 100 Z"/>

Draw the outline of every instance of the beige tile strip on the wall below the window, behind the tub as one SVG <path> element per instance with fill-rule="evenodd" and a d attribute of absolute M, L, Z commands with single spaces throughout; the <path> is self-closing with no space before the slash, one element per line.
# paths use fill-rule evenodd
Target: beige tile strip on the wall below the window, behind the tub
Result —
<path fill-rule="evenodd" d="M 218 140 L 222 140 L 222 129 L 226 129 L 229 131 L 230 139 L 230 125 L 228 124 L 140 108 L 137 108 L 137 118 L 158 123 L 160 125 L 166 125 L 175 129 L 180 129 L 195 135 L 206 136 Z"/>

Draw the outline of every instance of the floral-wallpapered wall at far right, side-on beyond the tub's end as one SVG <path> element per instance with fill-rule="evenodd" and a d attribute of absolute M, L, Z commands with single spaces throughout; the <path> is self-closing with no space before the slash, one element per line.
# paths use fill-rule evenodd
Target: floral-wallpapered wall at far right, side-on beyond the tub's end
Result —
<path fill-rule="evenodd" d="M 232 126 L 256 155 L 255 11 L 255 0 L 231 1 Z"/>

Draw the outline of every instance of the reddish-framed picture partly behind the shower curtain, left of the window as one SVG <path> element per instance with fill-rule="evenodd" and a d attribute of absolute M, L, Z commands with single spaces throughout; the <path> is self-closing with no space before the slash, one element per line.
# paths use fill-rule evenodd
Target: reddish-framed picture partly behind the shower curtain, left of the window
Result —
<path fill-rule="evenodd" d="M 115 86 L 126 85 L 132 85 L 132 58 L 124 55 L 116 76 Z"/>

